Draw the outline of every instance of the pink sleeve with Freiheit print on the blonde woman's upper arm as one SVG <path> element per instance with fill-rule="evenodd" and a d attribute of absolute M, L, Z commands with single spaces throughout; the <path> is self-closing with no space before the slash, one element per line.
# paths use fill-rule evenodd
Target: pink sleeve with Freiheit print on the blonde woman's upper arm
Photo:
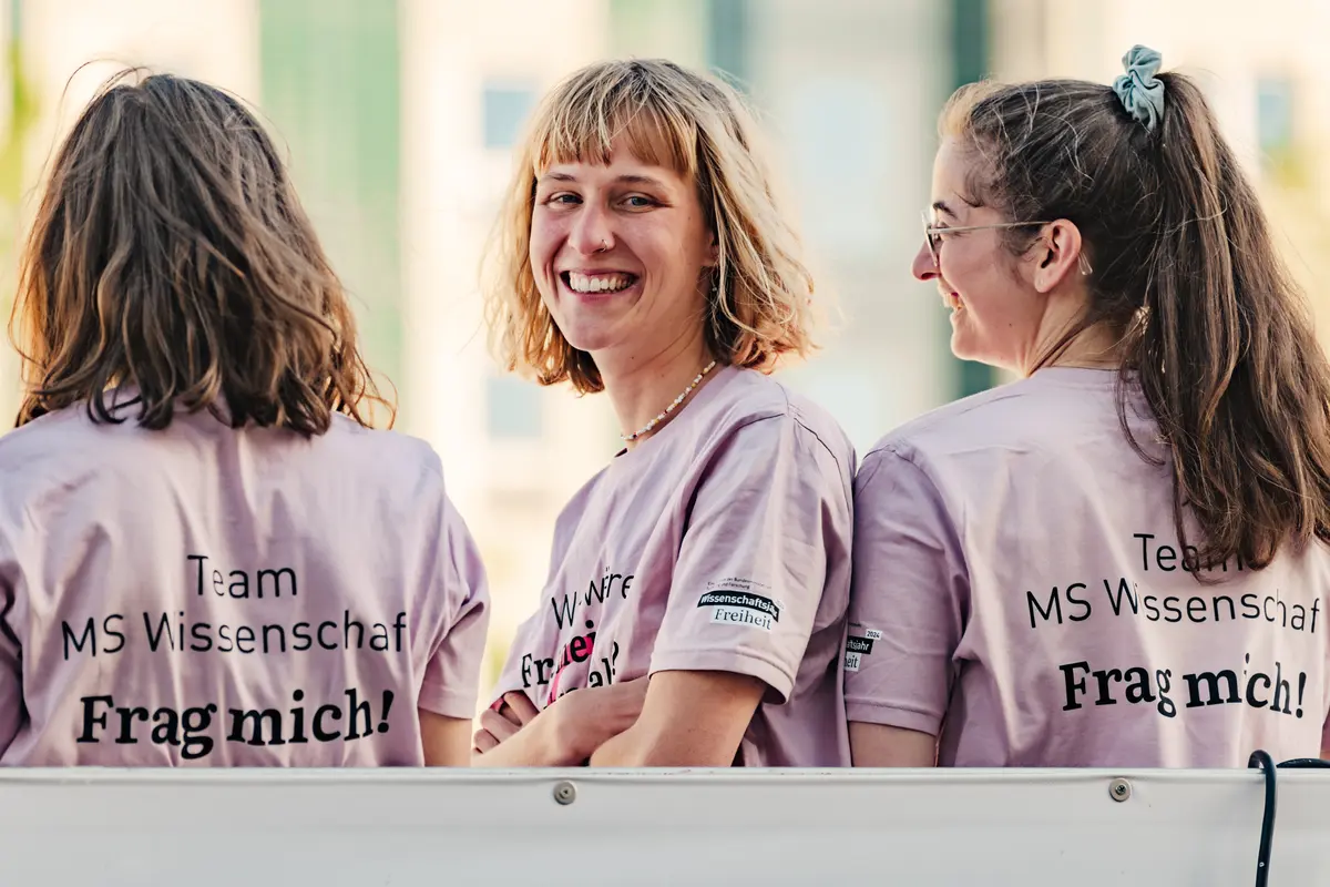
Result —
<path fill-rule="evenodd" d="M 750 422 L 716 449 L 694 487 L 652 673 L 749 674 L 785 702 L 825 628 L 829 557 L 849 556 L 849 471 L 787 415 Z"/>

